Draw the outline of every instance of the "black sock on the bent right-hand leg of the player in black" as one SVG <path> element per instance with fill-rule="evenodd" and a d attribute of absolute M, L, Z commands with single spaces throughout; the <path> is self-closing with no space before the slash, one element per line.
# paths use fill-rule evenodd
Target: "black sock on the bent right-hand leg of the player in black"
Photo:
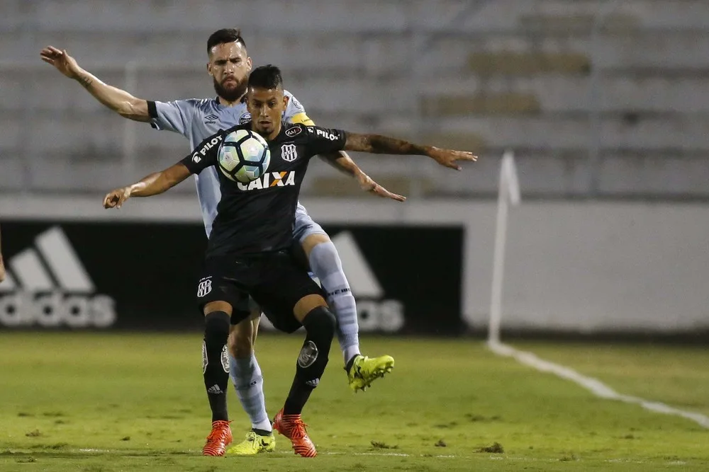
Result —
<path fill-rule="evenodd" d="M 328 365 L 337 321 L 325 306 L 318 306 L 303 318 L 303 326 L 306 328 L 306 341 L 298 355 L 296 377 L 283 407 L 284 415 L 300 415 L 313 389 L 318 386 Z"/>

